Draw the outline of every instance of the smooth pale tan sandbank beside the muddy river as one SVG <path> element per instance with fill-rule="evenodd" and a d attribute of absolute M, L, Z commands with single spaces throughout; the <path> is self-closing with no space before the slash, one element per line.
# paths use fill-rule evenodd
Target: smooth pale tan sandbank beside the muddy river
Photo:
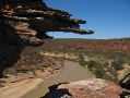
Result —
<path fill-rule="evenodd" d="M 44 82 L 42 78 L 32 78 L 14 83 L 0 89 L 0 98 L 23 98 L 31 90 L 35 90 Z"/>

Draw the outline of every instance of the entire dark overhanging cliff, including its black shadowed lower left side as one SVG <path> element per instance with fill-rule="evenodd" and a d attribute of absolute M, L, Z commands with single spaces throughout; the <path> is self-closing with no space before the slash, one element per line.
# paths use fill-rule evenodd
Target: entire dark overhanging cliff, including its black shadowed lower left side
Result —
<path fill-rule="evenodd" d="M 84 23 L 43 0 L 0 0 L 0 74 L 17 62 L 25 45 L 39 46 L 42 39 L 52 38 L 47 32 L 93 34 L 80 29 Z"/>

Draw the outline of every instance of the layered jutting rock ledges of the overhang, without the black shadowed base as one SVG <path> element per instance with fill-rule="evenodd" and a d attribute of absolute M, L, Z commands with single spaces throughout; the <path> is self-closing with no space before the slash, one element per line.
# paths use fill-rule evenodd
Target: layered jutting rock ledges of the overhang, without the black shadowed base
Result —
<path fill-rule="evenodd" d="M 80 24 L 85 24 L 85 21 L 71 19 L 68 12 L 48 8 L 43 0 L 0 0 L 0 11 L 1 19 L 8 20 L 8 24 L 27 42 L 33 39 L 42 44 L 39 39 L 52 38 L 47 32 L 94 33 L 80 29 Z"/>

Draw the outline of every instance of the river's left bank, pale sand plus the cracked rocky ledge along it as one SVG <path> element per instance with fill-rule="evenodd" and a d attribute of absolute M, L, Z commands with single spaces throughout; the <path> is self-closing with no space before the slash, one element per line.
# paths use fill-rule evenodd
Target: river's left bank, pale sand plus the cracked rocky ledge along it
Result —
<path fill-rule="evenodd" d="M 35 75 L 19 73 L 17 76 L 10 75 L 8 78 L 0 78 L 1 82 L 4 82 L 0 87 L 0 98 L 24 98 L 24 95 L 29 94 L 32 90 L 37 90 L 47 78 L 58 74 L 62 68 L 63 64 L 58 64 L 55 68 L 46 68 L 44 71 L 37 70 Z M 37 94 L 34 98 L 39 98 L 40 96 Z"/>

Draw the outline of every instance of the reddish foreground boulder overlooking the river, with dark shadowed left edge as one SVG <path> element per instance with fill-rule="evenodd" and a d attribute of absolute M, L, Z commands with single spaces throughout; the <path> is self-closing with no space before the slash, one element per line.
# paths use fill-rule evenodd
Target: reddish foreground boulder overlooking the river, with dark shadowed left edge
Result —
<path fill-rule="evenodd" d="M 129 90 L 96 78 L 52 86 L 43 98 L 123 98 L 127 95 L 130 95 Z"/>

